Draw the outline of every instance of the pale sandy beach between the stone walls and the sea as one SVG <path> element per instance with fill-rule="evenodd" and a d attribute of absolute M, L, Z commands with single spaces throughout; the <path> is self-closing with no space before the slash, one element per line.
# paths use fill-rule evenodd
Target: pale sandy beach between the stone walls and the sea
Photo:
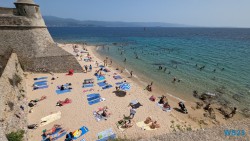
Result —
<path fill-rule="evenodd" d="M 73 44 L 59 44 L 59 47 L 68 51 L 69 53 L 76 56 L 74 50 L 72 48 Z M 82 51 L 82 47 L 84 45 L 77 45 L 78 50 Z M 130 75 L 127 72 L 120 73 L 119 70 L 116 70 L 117 64 L 110 65 L 110 61 L 108 61 L 108 69 L 110 72 L 103 72 L 107 83 L 111 84 L 113 87 L 109 89 L 102 90 L 101 87 L 97 85 L 97 79 L 94 76 L 96 70 L 99 69 L 95 65 L 97 61 L 100 65 L 103 65 L 104 56 L 100 56 L 95 52 L 95 46 L 84 46 L 87 48 L 88 53 L 92 57 L 92 62 L 85 62 L 80 60 L 80 57 L 76 57 L 79 61 L 82 68 L 84 65 L 92 65 L 93 69 L 91 72 L 87 73 L 74 73 L 72 76 L 66 75 L 66 73 L 47 73 L 47 74 L 34 74 L 34 73 L 26 73 L 26 84 L 27 84 L 27 98 L 28 100 L 33 100 L 40 98 L 42 96 L 46 96 L 46 99 L 40 101 L 32 107 L 32 112 L 28 114 L 28 123 L 29 124 L 39 124 L 41 118 L 48 116 L 52 113 L 56 113 L 58 111 L 61 112 L 61 118 L 47 124 L 42 127 L 38 127 L 34 130 L 29 130 L 29 140 L 37 141 L 42 140 L 42 131 L 44 129 L 50 129 L 54 124 L 61 124 L 62 127 L 68 132 L 79 129 L 82 126 L 86 126 L 89 129 L 89 132 L 85 135 L 81 136 L 78 140 L 85 139 L 86 141 L 94 141 L 97 140 L 97 134 L 106 129 L 112 129 L 117 137 L 120 138 L 128 138 L 128 139 L 138 139 L 138 138 L 148 138 L 156 135 L 162 135 L 165 133 L 171 133 L 175 131 L 185 131 L 185 130 L 198 130 L 202 128 L 209 128 L 216 125 L 226 124 L 227 122 L 231 122 L 232 120 L 240 119 L 240 116 L 236 114 L 233 118 L 225 120 L 224 117 L 216 110 L 217 105 L 212 105 L 212 108 L 215 109 L 216 120 L 204 117 L 205 111 L 203 108 L 196 109 L 196 101 L 186 101 L 184 99 L 184 103 L 187 107 L 188 114 L 183 114 L 176 110 L 179 108 L 178 102 L 180 99 L 171 97 L 166 93 L 161 93 L 161 91 L 157 91 L 157 86 L 153 85 L 153 92 L 149 92 L 145 90 L 145 84 L 139 83 L 137 78 L 128 78 Z M 82 53 L 83 58 L 86 58 L 87 53 Z M 62 62 L 67 65 L 70 62 Z M 123 79 L 115 80 L 113 78 L 114 73 L 121 75 Z M 135 74 L 136 75 L 136 74 Z M 48 85 L 49 87 L 46 89 L 33 90 L 34 80 L 33 78 L 38 77 L 48 77 Z M 52 77 L 55 80 L 51 80 Z M 84 79 L 94 79 L 94 87 L 93 91 L 83 92 L 84 90 L 88 90 L 90 88 L 82 88 L 82 83 Z M 131 90 L 127 92 L 125 96 L 120 96 L 115 93 L 115 86 L 117 82 L 121 82 L 126 80 L 131 85 Z M 72 84 L 72 90 L 69 93 L 65 94 L 56 94 L 57 86 L 61 86 L 66 83 Z M 145 82 L 150 83 L 150 82 Z M 91 93 L 99 93 L 102 98 L 105 98 L 105 101 L 99 102 L 94 105 L 89 105 L 87 101 L 87 95 Z M 154 95 L 155 97 L 159 97 L 161 95 L 166 95 L 168 102 L 172 108 L 170 112 L 163 111 L 159 106 L 157 106 L 157 102 L 159 98 L 156 99 L 155 102 L 149 100 L 149 98 Z M 69 98 L 72 100 L 70 104 L 66 104 L 62 107 L 56 106 L 57 101 L 64 100 Z M 139 101 L 143 106 L 136 109 L 136 114 L 132 119 L 132 123 L 134 124 L 132 127 L 127 128 L 124 131 L 121 131 L 117 128 L 117 121 L 123 119 L 123 115 L 128 116 L 130 113 L 131 107 L 128 106 L 132 100 Z M 197 100 L 199 101 L 199 100 Z M 107 120 L 102 120 L 97 122 L 94 118 L 93 112 L 98 110 L 98 108 L 107 106 L 108 112 L 111 115 L 107 118 Z M 156 120 L 160 124 L 160 128 L 156 130 L 143 130 L 136 125 L 136 123 L 144 121 L 147 117 L 151 117 L 153 120 Z M 64 137 L 58 139 L 58 141 L 63 141 Z"/>

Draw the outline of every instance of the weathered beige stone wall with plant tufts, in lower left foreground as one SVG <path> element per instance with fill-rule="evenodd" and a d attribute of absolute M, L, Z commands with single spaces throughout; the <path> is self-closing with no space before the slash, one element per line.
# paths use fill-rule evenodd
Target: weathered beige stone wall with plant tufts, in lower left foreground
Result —
<path fill-rule="evenodd" d="M 19 64 L 17 55 L 12 53 L 0 77 L 1 141 L 6 140 L 5 134 L 19 129 L 25 131 L 24 141 L 27 140 L 28 101 L 24 79 L 24 72 Z M 21 110 L 21 105 L 24 107 L 24 110 Z"/>

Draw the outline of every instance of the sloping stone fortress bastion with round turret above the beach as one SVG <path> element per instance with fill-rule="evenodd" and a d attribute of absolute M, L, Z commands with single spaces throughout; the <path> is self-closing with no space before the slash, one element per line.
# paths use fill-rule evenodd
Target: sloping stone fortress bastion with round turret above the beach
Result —
<path fill-rule="evenodd" d="M 82 72 L 75 57 L 59 48 L 33 0 L 17 0 L 16 8 L 0 7 L 0 48 L 17 53 L 24 71 Z"/>

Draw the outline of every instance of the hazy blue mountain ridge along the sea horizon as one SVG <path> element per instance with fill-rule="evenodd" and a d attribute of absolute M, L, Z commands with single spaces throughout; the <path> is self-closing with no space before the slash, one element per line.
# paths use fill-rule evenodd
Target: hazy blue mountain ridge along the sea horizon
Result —
<path fill-rule="evenodd" d="M 187 25 L 161 22 L 109 22 L 109 21 L 79 21 L 54 16 L 44 16 L 48 27 L 190 27 Z"/>

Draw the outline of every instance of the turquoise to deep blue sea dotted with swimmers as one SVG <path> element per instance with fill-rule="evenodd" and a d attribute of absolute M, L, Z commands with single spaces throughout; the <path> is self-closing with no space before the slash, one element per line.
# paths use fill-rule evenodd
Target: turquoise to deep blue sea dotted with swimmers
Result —
<path fill-rule="evenodd" d="M 98 27 L 49 31 L 57 42 L 104 45 L 100 54 L 148 83 L 154 81 L 163 92 L 187 99 L 193 90 L 221 92 L 224 103 L 241 109 L 250 106 L 250 29 Z M 158 70 L 159 65 L 163 70 Z M 174 77 L 181 82 L 172 83 Z"/>

